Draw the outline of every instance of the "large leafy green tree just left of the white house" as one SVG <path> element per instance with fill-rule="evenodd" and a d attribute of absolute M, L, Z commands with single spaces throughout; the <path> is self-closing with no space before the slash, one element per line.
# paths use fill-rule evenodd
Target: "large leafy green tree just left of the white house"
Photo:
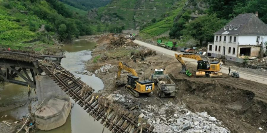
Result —
<path fill-rule="evenodd" d="M 213 41 L 213 33 L 222 28 L 227 22 L 227 20 L 217 18 L 216 14 L 205 15 L 187 23 L 182 33 L 199 40 L 202 46 L 203 41 L 206 43 Z"/>

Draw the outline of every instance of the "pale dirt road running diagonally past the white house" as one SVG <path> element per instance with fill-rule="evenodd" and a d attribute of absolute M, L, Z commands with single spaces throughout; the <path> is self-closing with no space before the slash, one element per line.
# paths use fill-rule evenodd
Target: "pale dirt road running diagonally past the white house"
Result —
<path fill-rule="evenodd" d="M 155 51 L 158 51 L 160 53 L 164 53 L 164 54 L 167 54 L 167 55 L 170 55 L 170 56 L 173 56 L 173 57 L 174 57 L 174 53 L 179 53 L 177 51 L 168 50 L 166 48 L 162 48 L 162 47 L 159 47 L 159 46 L 148 44 L 148 43 L 145 43 L 145 42 L 142 42 L 142 41 L 139 41 L 139 40 L 134 40 L 134 42 L 139 44 L 139 45 L 142 45 L 144 47 L 153 49 Z M 179 54 L 182 54 L 182 53 L 179 53 Z M 196 60 L 193 60 L 193 59 L 183 58 L 183 60 L 186 61 L 187 63 L 190 62 L 192 64 L 197 64 Z M 233 71 L 238 71 L 238 70 L 235 70 L 235 69 L 232 69 L 232 70 Z M 221 72 L 225 73 L 225 74 L 228 74 L 228 67 L 222 66 Z M 239 72 L 240 78 L 243 78 L 243 79 L 246 79 L 246 80 L 255 81 L 255 82 L 259 82 L 259 83 L 263 83 L 263 84 L 267 85 L 267 78 L 266 77 L 262 77 L 262 76 L 259 76 L 259 75 L 247 74 L 245 72 L 240 72 L 240 71 L 238 71 L 238 72 Z"/>

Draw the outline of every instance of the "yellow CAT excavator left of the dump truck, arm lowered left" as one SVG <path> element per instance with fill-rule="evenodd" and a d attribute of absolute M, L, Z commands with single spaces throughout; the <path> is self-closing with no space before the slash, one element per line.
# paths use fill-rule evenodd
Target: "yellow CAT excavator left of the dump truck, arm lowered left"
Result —
<path fill-rule="evenodd" d="M 117 80 L 120 80 L 120 74 L 122 69 L 126 70 L 127 72 L 131 72 L 128 74 L 127 84 L 125 86 L 126 90 L 133 94 L 135 97 L 139 97 L 139 93 L 147 94 L 148 96 L 151 95 L 151 92 L 154 90 L 154 83 L 151 80 L 143 80 L 139 81 L 139 77 L 135 70 L 129 67 L 127 64 L 123 63 L 122 61 L 119 62 Z"/>

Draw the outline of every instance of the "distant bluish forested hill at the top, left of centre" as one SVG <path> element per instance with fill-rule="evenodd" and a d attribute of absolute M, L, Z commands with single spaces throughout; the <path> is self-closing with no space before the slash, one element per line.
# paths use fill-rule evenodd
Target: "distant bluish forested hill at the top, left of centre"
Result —
<path fill-rule="evenodd" d="M 72 7 L 88 11 L 93 8 L 104 7 L 109 4 L 111 0 L 60 0 Z"/>

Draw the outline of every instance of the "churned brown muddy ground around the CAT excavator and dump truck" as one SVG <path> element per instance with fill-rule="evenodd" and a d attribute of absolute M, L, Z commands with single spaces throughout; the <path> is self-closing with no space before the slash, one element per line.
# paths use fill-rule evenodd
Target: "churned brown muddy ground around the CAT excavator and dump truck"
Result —
<path fill-rule="evenodd" d="M 111 47 L 109 40 L 112 35 L 104 36 L 97 42 L 98 45 L 93 51 L 94 57 L 87 62 L 88 71 L 94 73 L 95 70 L 111 64 L 112 68 L 108 72 L 97 73 L 96 76 L 104 82 L 103 95 L 118 94 L 127 95 L 124 87 L 115 88 L 117 77 L 117 65 L 123 61 L 134 68 L 141 80 L 150 79 L 153 71 L 151 69 L 165 69 L 164 73 L 169 74 L 176 83 L 176 96 L 174 98 L 158 98 L 157 87 L 151 97 L 141 96 L 133 98 L 134 103 L 145 108 L 148 105 L 162 107 L 165 103 L 183 105 L 192 112 L 206 111 L 209 115 L 222 121 L 222 125 L 231 132 L 266 132 L 267 130 L 267 87 L 264 84 L 232 78 L 223 74 L 222 78 L 195 78 L 179 74 L 181 65 L 171 56 L 157 54 L 145 57 L 145 61 L 134 63 L 130 60 L 131 52 L 138 52 L 144 47 L 122 46 Z M 94 61 L 96 60 L 96 61 Z M 195 73 L 196 66 L 187 66 L 191 73 Z M 123 72 L 120 80 L 127 80 L 127 72 Z M 131 111 L 125 102 L 117 102 Z M 127 102 L 126 102 L 127 103 Z M 132 102 L 133 103 L 133 102 Z M 138 105 L 138 107 L 139 107 Z M 171 108 L 170 108 L 171 110 Z M 134 112 L 139 113 L 139 112 Z M 156 112 L 154 112 L 156 113 Z M 263 130 L 260 130 L 262 128 Z"/>

